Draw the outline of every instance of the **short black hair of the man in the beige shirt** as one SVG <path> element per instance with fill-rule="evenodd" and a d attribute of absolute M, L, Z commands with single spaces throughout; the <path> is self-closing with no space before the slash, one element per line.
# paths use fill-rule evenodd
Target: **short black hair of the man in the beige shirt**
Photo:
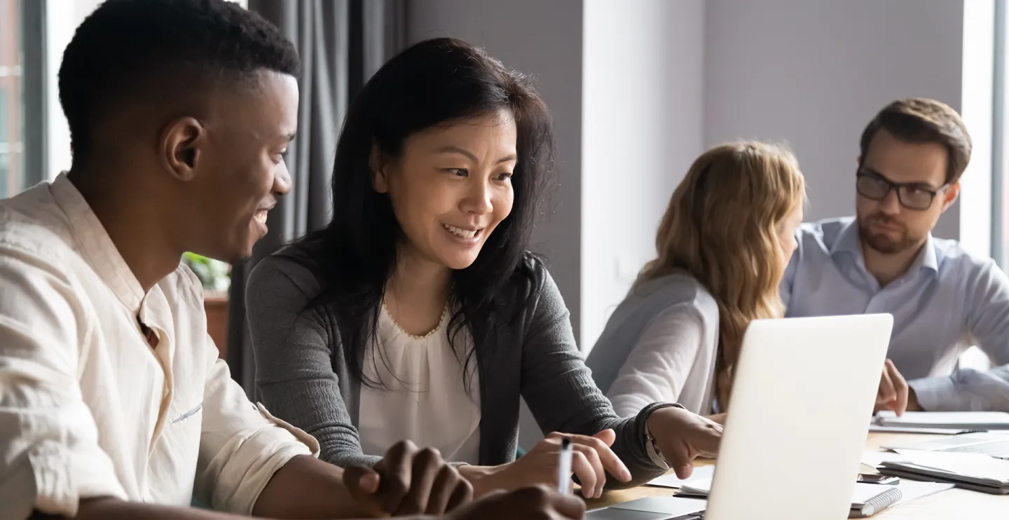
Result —
<path fill-rule="evenodd" d="M 60 103 L 75 160 L 127 102 L 172 102 L 213 81 L 267 70 L 298 75 L 294 44 L 225 0 L 107 0 L 77 28 L 60 67 Z"/>

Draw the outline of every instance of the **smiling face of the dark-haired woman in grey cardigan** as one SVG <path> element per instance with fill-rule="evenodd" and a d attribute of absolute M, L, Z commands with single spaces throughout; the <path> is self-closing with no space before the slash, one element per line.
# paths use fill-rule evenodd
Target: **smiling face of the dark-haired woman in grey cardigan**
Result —
<path fill-rule="evenodd" d="M 476 261 L 512 212 L 516 139 L 512 115 L 495 112 L 415 133 L 379 166 L 374 189 L 388 194 L 411 254 L 454 270 Z"/>

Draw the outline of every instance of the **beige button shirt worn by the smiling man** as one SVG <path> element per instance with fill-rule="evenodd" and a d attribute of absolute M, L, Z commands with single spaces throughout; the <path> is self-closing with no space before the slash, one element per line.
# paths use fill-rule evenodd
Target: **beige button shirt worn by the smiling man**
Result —
<path fill-rule="evenodd" d="M 66 176 L 0 201 L 0 518 L 98 496 L 250 513 L 318 443 L 217 356 L 193 273 L 144 294 Z"/>

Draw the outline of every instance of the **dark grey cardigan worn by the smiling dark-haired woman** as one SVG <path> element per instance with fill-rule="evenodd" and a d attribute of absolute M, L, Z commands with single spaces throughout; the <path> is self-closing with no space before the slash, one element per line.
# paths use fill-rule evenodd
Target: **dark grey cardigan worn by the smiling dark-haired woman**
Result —
<path fill-rule="evenodd" d="M 319 294 L 320 282 L 293 258 L 304 253 L 299 247 L 263 259 L 249 277 L 246 306 L 256 386 L 273 415 L 319 440 L 322 459 L 340 466 L 373 464 L 379 457 L 361 452 L 355 428 L 360 384 L 347 373 L 335 313 L 325 307 L 303 312 Z M 536 274 L 534 304 L 522 319 L 488 336 L 495 343 L 493 358 L 482 358 L 482 350 L 476 349 L 479 463 L 515 459 L 521 396 L 544 432 L 615 431 L 612 449 L 633 481 L 608 478 L 606 488 L 637 486 L 662 475 L 665 469 L 649 456 L 645 424 L 653 410 L 669 405 L 655 403 L 635 417 L 618 417 L 575 345 L 569 313 L 553 279 L 539 261 L 530 256 L 526 262 Z"/>

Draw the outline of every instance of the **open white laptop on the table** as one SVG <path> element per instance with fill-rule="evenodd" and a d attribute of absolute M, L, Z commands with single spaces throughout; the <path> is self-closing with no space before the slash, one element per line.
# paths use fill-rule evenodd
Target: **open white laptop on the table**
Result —
<path fill-rule="evenodd" d="M 706 511 L 651 497 L 586 518 L 848 518 L 892 327 L 889 314 L 753 321 Z"/>

